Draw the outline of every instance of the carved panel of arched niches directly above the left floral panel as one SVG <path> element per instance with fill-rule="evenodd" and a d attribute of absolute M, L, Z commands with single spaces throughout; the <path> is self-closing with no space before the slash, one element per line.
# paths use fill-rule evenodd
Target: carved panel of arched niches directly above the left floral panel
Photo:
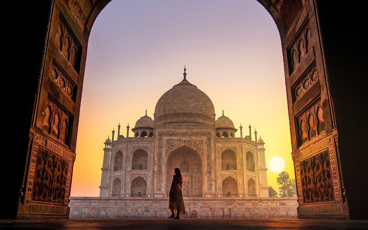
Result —
<path fill-rule="evenodd" d="M 43 116 L 43 132 L 69 145 L 72 115 L 65 109 L 61 109 L 54 99 L 47 98 Z"/>

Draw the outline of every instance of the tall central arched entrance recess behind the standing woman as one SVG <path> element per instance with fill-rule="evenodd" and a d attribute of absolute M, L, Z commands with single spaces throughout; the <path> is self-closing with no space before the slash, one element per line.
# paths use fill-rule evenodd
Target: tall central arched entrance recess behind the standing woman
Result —
<path fill-rule="evenodd" d="M 166 195 L 169 196 L 174 169 L 180 168 L 188 197 L 203 196 L 203 163 L 197 150 L 187 146 L 172 150 L 166 159 Z"/>

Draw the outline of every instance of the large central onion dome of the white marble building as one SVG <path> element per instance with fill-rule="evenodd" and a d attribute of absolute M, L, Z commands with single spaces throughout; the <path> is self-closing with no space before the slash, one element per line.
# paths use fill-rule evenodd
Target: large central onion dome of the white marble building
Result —
<path fill-rule="evenodd" d="M 185 72 L 184 72 L 185 73 Z M 178 122 L 213 124 L 215 107 L 211 99 L 185 79 L 174 85 L 158 100 L 156 124 Z"/>

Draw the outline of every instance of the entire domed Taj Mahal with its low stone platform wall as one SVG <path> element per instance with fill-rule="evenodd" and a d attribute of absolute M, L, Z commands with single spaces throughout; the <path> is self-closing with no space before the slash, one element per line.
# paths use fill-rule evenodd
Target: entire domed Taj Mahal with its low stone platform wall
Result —
<path fill-rule="evenodd" d="M 126 136 L 107 138 L 99 197 L 70 197 L 71 218 L 169 216 L 174 168 L 183 175 L 188 217 L 296 217 L 297 198 L 270 198 L 265 142 L 251 125 L 240 137 L 233 121 L 216 119 L 211 99 L 184 78 Z M 116 139 L 115 139 L 116 137 Z"/>

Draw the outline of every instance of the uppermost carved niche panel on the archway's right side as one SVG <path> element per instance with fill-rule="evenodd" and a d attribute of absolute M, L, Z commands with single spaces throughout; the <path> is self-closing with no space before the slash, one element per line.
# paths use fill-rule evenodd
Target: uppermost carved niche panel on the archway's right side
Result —
<path fill-rule="evenodd" d="M 312 33 L 313 31 L 311 30 L 309 19 L 306 18 L 287 48 L 289 76 L 304 59 L 309 50 L 312 49 L 314 43 Z"/>

